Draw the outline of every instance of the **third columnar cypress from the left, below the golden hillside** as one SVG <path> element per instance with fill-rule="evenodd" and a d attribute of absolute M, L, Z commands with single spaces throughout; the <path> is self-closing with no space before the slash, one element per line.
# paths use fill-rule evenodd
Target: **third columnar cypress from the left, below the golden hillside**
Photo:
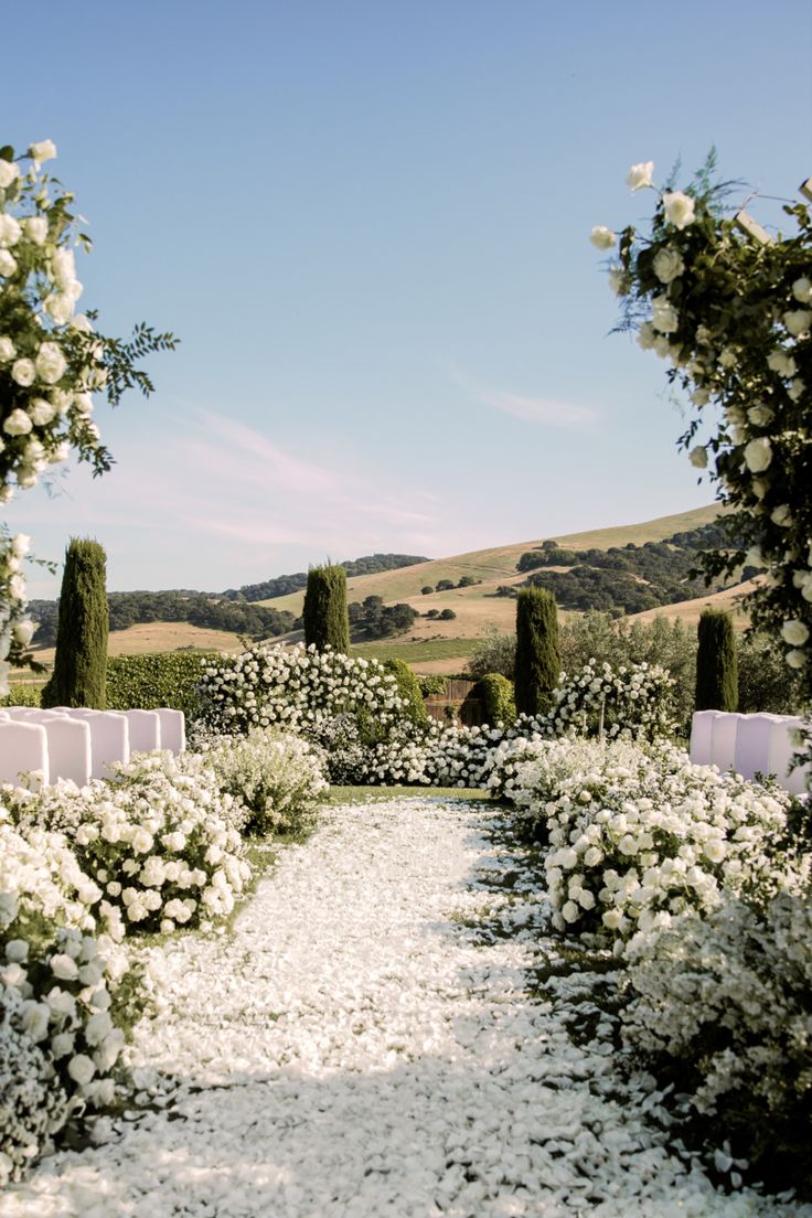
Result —
<path fill-rule="evenodd" d="M 516 600 L 516 711 L 548 711 L 560 672 L 555 597 L 545 588 L 521 588 Z"/>

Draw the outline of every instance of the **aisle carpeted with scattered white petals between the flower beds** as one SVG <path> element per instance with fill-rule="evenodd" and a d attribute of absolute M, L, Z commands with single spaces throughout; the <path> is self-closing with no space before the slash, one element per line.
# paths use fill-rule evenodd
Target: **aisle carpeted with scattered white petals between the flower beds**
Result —
<path fill-rule="evenodd" d="M 233 934 L 152 949 L 166 1006 L 133 1060 L 158 1106 L 45 1160 L 0 1216 L 812 1214 L 717 1192 L 646 1123 L 651 1080 L 616 1075 L 611 1017 L 570 1037 L 588 989 L 527 993 L 555 940 L 492 817 L 334 809 Z"/>

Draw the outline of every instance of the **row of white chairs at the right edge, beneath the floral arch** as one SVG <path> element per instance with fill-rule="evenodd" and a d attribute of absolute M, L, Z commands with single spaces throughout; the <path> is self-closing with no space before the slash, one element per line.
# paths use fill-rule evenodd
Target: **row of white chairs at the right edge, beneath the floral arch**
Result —
<path fill-rule="evenodd" d="M 734 770 L 743 778 L 774 775 L 785 790 L 800 795 L 807 789 L 810 767 L 790 770 L 790 762 L 802 726 L 796 715 L 698 710 L 690 730 L 690 759 L 696 765 Z"/>

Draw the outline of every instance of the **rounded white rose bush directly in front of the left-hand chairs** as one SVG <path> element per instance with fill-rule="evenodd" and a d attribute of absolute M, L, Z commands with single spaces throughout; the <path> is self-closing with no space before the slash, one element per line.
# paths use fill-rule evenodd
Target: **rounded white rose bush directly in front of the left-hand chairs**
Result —
<path fill-rule="evenodd" d="M 136 754 L 113 769 L 114 782 L 80 790 L 65 782 L 38 793 L 16 788 L 10 812 L 66 833 L 95 882 L 91 906 L 116 909 L 128 933 L 207 928 L 228 916 L 250 875 L 242 805 L 194 754 Z"/>

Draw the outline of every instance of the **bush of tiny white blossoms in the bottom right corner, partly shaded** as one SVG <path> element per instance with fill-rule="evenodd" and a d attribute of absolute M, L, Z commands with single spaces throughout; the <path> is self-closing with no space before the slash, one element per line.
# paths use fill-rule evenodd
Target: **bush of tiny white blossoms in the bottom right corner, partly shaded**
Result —
<path fill-rule="evenodd" d="M 726 899 L 627 948 L 622 1035 L 758 1172 L 812 1184 L 812 894 Z M 788 1169 L 791 1164 L 791 1173 Z M 803 1166 L 805 1164 L 805 1166 Z M 786 1170 L 784 1179 L 783 1172 Z"/>

